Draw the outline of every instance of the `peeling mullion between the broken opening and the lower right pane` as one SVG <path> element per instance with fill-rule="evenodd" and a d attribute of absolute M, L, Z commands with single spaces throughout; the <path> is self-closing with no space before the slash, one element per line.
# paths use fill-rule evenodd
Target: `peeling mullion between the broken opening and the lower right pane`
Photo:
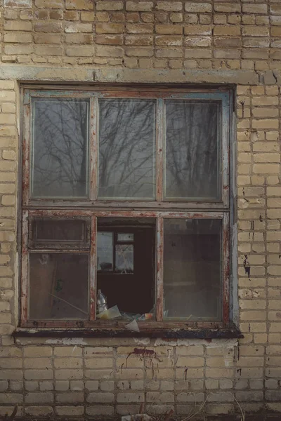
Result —
<path fill-rule="evenodd" d="M 164 218 L 156 220 L 156 321 L 163 321 Z"/>

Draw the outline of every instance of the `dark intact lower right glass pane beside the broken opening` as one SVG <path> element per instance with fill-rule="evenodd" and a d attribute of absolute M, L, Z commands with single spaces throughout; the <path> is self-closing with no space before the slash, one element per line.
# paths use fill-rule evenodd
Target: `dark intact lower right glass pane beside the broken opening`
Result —
<path fill-rule="evenodd" d="M 164 220 L 164 317 L 221 319 L 221 220 Z"/>

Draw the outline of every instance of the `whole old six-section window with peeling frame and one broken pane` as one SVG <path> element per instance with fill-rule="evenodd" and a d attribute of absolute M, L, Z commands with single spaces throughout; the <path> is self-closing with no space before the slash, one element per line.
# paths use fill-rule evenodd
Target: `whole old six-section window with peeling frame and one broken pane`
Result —
<path fill-rule="evenodd" d="M 21 326 L 228 326 L 230 91 L 22 91 Z"/>

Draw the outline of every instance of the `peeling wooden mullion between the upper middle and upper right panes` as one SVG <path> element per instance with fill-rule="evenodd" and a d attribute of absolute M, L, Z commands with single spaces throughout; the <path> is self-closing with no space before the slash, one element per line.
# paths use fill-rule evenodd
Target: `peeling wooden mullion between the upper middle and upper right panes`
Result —
<path fill-rule="evenodd" d="M 156 199 L 163 199 L 163 159 L 164 159 L 164 100 L 158 98 L 156 111 Z"/>

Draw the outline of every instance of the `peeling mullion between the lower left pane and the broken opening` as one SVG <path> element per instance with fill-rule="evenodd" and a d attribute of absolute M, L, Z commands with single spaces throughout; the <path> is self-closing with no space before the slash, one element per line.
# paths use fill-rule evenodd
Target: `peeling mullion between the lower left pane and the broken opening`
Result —
<path fill-rule="evenodd" d="M 96 320 L 96 237 L 97 222 L 96 216 L 91 218 L 91 250 L 90 250 L 90 320 Z"/>

